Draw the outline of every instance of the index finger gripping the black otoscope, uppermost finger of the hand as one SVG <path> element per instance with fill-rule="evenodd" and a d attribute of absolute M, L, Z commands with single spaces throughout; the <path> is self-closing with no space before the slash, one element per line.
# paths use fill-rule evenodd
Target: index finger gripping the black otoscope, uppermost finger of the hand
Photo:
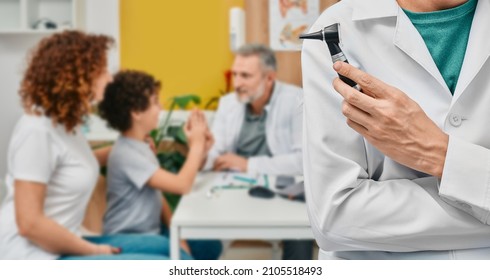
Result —
<path fill-rule="evenodd" d="M 387 96 L 391 91 L 391 87 L 386 83 L 348 63 L 337 61 L 334 63 L 333 68 L 340 75 L 355 81 L 361 87 L 363 93 L 374 98 Z"/>

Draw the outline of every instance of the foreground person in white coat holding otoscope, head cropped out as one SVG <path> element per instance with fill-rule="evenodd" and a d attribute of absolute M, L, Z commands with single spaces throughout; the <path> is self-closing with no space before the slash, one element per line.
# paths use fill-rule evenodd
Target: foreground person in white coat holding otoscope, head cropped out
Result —
<path fill-rule="evenodd" d="M 311 28 L 340 23 L 351 63 L 304 43 L 304 175 L 320 258 L 490 259 L 489 10 L 488 0 L 343 0 Z M 459 64 L 440 63 L 458 52 Z"/>

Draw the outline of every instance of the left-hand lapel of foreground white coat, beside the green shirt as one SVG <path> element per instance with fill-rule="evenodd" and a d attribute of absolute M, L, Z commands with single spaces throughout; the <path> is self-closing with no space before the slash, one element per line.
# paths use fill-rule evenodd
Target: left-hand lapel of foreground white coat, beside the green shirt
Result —
<path fill-rule="evenodd" d="M 393 43 L 405 54 L 424 68 L 451 95 L 437 65 L 425 45 L 424 39 L 413 26 L 410 19 L 399 9 Z"/>

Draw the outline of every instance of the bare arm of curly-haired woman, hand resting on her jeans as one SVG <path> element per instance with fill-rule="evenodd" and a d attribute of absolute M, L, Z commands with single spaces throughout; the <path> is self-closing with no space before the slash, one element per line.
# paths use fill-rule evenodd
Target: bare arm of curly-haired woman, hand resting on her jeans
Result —
<path fill-rule="evenodd" d="M 117 248 L 96 245 L 74 235 L 44 215 L 46 185 L 15 181 L 15 218 L 20 235 L 60 255 L 114 254 Z"/>

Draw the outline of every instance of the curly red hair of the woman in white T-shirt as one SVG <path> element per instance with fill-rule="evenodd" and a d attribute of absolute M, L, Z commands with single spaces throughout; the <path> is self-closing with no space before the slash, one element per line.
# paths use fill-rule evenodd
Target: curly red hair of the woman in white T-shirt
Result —
<path fill-rule="evenodd" d="M 73 131 L 90 112 L 93 83 L 107 67 L 113 43 L 110 37 L 80 31 L 43 39 L 33 50 L 21 83 L 24 110 Z"/>

